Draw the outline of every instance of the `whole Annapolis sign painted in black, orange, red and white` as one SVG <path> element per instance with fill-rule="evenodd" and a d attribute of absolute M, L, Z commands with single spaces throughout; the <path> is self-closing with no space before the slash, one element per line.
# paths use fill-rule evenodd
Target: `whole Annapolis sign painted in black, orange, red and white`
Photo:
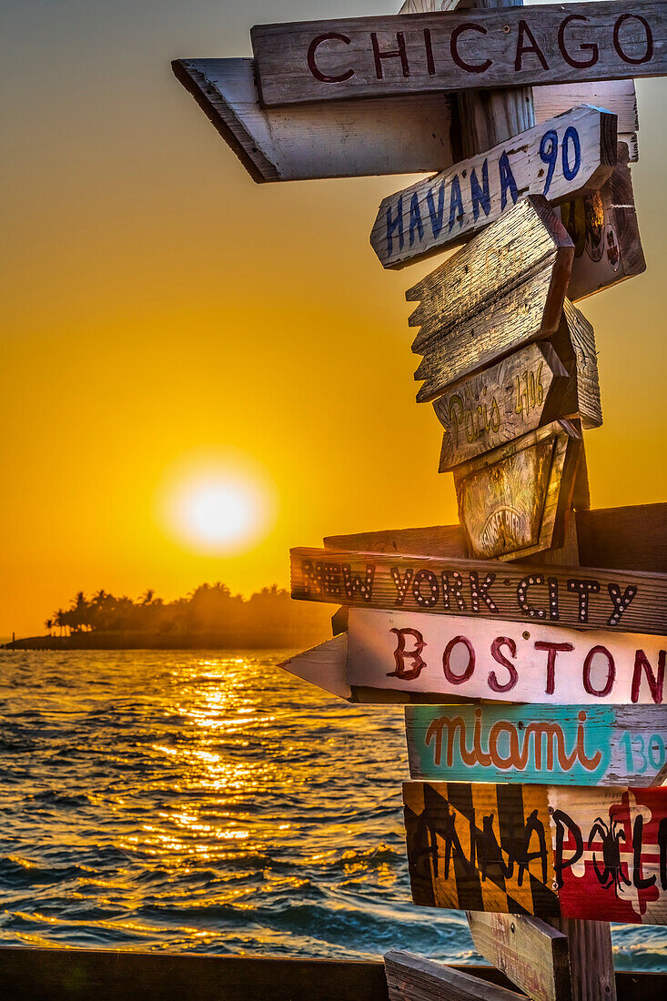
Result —
<path fill-rule="evenodd" d="M 667 923 L 667 789 L 407 782 L 424 907 Z"/>

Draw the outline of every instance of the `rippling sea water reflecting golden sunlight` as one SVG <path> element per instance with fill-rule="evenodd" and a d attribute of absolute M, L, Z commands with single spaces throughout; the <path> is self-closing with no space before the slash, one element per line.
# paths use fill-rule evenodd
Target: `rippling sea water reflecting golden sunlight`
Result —
<path fill-rule="evenodd" d="M 0 945 L 482 961 L 410 899 L 403 711 L 280 659 L 0 652 Z M 667 970 L 664 929 L 614 943 Z"/>

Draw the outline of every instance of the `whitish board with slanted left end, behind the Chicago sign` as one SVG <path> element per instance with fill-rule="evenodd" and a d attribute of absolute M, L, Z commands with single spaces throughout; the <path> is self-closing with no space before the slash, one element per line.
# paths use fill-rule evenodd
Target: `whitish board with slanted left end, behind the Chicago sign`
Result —
<path fill-rule="evenodd" d="M 409 94 L 261 108 L 252 59 L 176 59 L 176 78 L 257 183 L 444 170 L 461 158 L 451 98 Z M 618 138 L 638 157 L 633 80 L 557 84 L 534 90 L 535 120 L 578 104 L 618 116 Z"/>

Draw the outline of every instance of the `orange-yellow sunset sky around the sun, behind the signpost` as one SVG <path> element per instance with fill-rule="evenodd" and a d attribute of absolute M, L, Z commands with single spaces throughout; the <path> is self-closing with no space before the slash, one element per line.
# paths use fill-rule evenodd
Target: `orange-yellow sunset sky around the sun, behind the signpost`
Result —
<path fill-rule="evenodd" d="M 369 245 L 406 178 L 255 185 L 172 76 L 248 55 L 253 23 L 382 0 L 2 0 L 0 636 L 78 589 L 164 598 L 286 585 L 290 546 L 456 521 L 415 403 L 405 289 Z M 397 5 L 397 9 L 398 9 Z M 594 507 L 665 498 L 664 80 L 637 85 L 647 273 L 588 299 L 605 422 Z M 231 449 L 276 498 L 254 548 L 183 549 L 157 508 L 190 453 Z"/>

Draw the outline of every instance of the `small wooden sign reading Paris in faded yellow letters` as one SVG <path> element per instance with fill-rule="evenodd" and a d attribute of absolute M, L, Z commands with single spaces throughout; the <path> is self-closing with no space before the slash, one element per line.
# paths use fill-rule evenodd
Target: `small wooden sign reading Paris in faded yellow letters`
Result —
<path fill-rule="evenodd" d="M 535 430 L 554 416 L 556 387 L 568 371 L 548 341 L 529 344 L 434 400 L 445 428 L 440 471 Z M 564 393 L 559 393 L 562 396 Z"/>

